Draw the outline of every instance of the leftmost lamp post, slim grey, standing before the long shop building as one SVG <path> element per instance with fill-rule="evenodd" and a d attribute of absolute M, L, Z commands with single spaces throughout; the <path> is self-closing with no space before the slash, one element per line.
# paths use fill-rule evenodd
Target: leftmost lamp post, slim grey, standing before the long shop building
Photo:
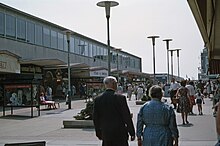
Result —
<path fill-rule="evenodd" d="M 67 47 L 68 47 L 68 109 L 71 109 L 71 90 L 70 90 L 70 36 L 71 31 L 66 31 Z"/>

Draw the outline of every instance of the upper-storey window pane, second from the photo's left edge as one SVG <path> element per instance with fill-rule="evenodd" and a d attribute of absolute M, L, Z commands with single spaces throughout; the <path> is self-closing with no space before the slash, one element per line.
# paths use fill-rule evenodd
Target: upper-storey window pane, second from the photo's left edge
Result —
<path fill-rule="evenodd" d="M 15 37 L 15 17 L 6 14 L 6 35 Z"/>

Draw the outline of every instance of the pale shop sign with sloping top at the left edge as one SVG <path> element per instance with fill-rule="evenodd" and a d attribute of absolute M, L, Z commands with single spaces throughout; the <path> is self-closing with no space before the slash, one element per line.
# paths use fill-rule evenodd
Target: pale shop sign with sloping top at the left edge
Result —
<path fill-rule="evenodd" d="M 0 72 L 20 73 L 18 59 L 7 54 L 0 54 Z"/>

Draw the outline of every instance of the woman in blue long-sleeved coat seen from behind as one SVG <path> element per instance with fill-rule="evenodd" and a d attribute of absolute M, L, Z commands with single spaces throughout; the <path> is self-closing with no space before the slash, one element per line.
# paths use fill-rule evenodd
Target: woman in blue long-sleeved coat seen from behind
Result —
<path fill-rule="evenodd" d="M 173 108 L 163 102 L 162 88 L 153 85 L 148 101 L 141 107 L 137 118 L 138 146 L 178 146 L 179 131 Z"/>

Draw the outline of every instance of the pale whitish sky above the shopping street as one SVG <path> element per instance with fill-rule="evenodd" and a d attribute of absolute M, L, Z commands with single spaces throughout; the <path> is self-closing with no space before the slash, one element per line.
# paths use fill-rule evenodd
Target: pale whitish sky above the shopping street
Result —
<path fill-rule="evenodd" d="M 96 5 L 99 1 L 0 0 L 3 4 L 107 44 L 105 9 Z M 167 50 L 163 39 L 171 38 L 170 49 L 181 49 L 180 76 L 198 78 L 204 43 L 187 0 L 116 1 L 119 5 L 111 8 L 110 12 L 112 47 L 142 58 L 142 72 L 153 73 L 152 40 L 147 37 L 158 35 L 160 38 L 155 44 L 156 73 L 167 73 Z M 177 76 L 176 52 L 173 63 L 173 73 Z"/>

